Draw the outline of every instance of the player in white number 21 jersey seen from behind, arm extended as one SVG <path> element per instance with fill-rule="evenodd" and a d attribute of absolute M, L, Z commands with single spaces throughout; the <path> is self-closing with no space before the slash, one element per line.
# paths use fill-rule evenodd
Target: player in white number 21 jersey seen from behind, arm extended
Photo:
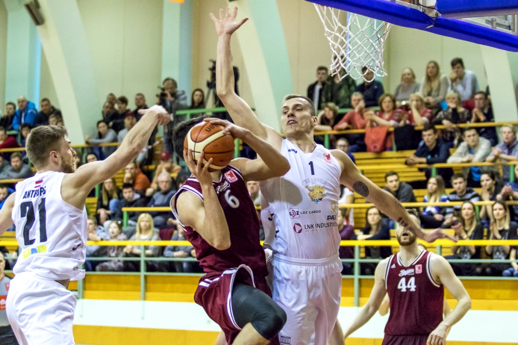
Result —
<path fill-rule="evenodd" d="M 0 210 L 0 235 L 15 223 L 21 249 L 6 306 L 20 344 L 74 344 L 76 298 L 67 287 L 84 277 L 87 196 L 137 157 L 156 125 L 169 122 L 159 106 L 141 113 L 116 152 L 77 171 L 64 127 L 40 126 L 29 134 L 25 148 L 36 175 L 18 183 Z"/>

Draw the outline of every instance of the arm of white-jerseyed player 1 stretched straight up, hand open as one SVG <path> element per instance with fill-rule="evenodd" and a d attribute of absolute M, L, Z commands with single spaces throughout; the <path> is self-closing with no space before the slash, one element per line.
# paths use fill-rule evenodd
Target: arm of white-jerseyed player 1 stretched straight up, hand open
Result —
<path fill-rule="evenodd" d="M 218 33 L 216 57 L 216 90 L 218 97 L 223 102 L 228 114 L 232 117 L 236 125 L 250 130 L 257 137 L 274 145 L 276 149 L 280 149 L 282 137 L 279 133 L 277 133 L 275 129 L 263 125 L 257 116 L 255 116 L 247 102 L 234 92 L 234 69 L 232 67 L 232 51 L 230 46 L 231 37 L 232 34 L 248 20 L 248 18 L 243 18 L 239 23 L 236 23 L 236 16 L 237 6 L 232 13 L 229 7 L 226 8 L 225 12 L 220 9 L 219 19 L 210 13 L 210 18 L 214 21 L 216 32 Z"/>

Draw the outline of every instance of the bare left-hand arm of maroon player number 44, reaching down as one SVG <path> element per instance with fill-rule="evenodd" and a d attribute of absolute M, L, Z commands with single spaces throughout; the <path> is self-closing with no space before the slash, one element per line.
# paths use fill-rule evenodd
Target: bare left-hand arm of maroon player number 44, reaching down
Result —
<path fill-rule="evenodd" d="M 347 339 L 347 337 L 357 331 L 357 329 L 365 325 L 380 308 L 381 302 L 383 302 L 383 298 L 385 298 L 387 292 L 385 289 L 385 269 L 388 261 L 388 259 L 384 259 L 376 267 L 374 286 L 372 287 L 369 300 L 356 315 L 349 327 L 344 329 L 344 339 Z"/>

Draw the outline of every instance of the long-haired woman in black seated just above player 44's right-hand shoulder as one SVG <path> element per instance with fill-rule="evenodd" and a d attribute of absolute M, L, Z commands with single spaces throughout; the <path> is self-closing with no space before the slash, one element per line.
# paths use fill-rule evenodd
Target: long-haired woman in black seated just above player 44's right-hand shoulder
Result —
<path fill-rule="evenodd" d="M 453 224 L 452 229 L 459 239 L 483 239 L 484 226 L 478 221 L 475 205 L 466 201 L 461 206 L 461 215 L 459 222 Z M 452 246 L 453 255 L 447 256 L 446 259 L 480 259 L 480 246 Z M 474 276 L 477 275 L 477 264 L 472 263 L 451 263 L 453 272 L 457 276 Z M 480 272 L 479 272 L 480 274 Z"/>

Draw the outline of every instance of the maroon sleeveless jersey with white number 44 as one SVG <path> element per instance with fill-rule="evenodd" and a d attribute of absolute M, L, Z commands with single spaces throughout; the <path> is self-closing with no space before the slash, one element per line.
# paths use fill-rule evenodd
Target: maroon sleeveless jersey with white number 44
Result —
<path fill-rule="evenodd" d="M 430 272 L 429 251 L 423 250 L 408 266 L 399 253 L 389 258 L 385 288 L 390 298 L 386 335 L 427 335 L 442 322 L 444 287 Z"/>

